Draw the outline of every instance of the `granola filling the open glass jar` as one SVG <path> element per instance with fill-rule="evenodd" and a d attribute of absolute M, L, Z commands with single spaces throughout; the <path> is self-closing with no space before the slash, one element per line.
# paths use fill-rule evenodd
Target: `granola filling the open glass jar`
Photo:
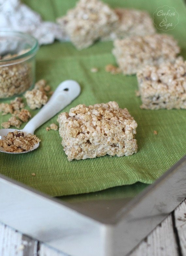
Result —
<path fill-rule="evenodd" d="M 0 65 L 0 98 L 8 98 L 21 94 L 30 88 L 33 84 L 32 65 L 29 62 L 19 62 L 14 64 L 11 58 L 15 58 L 24 52 L 18 54 L 8 54 L 1 57 Z M 9 64 L 7 65 L 7 61 Z M 5 62 L 3 61 L 5 60 Z"/>

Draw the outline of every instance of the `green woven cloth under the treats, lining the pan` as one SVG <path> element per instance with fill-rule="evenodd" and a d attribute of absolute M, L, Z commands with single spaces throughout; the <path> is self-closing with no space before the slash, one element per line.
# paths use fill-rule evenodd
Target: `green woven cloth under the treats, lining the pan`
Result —
<path fill-rule="evenodd" d="M 24 0 L 25 4 L 39 12 L 44 20 L 54 21 L 64 15 L 76 1 Z M 108 0 L 112 8 L 127 7 L 145 9 L 152 16 L 158 7 L 174 7 L 179 14 L 178 25 L 167 32 L 172 34 L 186 58 L 186 7 L 181 0 Z M 157 21 L 158 22 L 158 21 Z M 42 45 L 37 54 L 36 80 L 46 79 L 54 90 L 66 79 L 74 79 L 81 86 L 81 94 L 63 111 L 68 112 L 78 104 L 91 105 L 116 101 L 120 108 L 127 108 L 138 123 L 136 139 L 138 153 L 132 156 L 108 155 L 69 162 L 61 145 L 58 131 L 46 131 L 51 123 L 58 124 L 54 116 L 35 131 L 41 139 L 38 149 L 27 154 L 0 153 L 0 171 L 50 196 L 64 196 L 100 191 L 129 185 L 137 181 L 152 183 L 175 164 L 186 152 L 186 110 L 142 110 L 136 76 L 112 75 L 105 72 L 107 64 L 116 65 L 111 51 L 113 42 L 97 42 L 78 51 L 71 43 L 55 41 Z M 92 73 L 92 67 L 98 72 Z M 9 102 L 1 100 L 1 102 Z M 31 111 L 35 115 L 38 111 Z M 10 115 L 0 115 L 0 123 Z M 24 125 L 21 126 L 23 128 Z M 157 135 L 153 133 L 156 130 Z M 35 173 L 36 176 L 32 176 Z"/>

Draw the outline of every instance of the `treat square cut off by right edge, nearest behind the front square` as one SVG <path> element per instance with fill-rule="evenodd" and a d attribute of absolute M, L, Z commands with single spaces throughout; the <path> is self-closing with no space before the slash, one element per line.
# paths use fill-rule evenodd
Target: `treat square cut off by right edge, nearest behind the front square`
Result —
<path fill-rule="evenodd" d="M 147 66 L 137 72 L 143 109 L 186 109 L 186 61 Z"/>

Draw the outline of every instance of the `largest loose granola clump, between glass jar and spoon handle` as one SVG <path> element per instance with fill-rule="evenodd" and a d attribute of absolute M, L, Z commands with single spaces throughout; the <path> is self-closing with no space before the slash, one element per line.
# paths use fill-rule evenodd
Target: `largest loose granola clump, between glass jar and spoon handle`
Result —
<path fill-rule="evenodd" d="M 24 94 L 24 97 L 26 98 L 26 103 L 30 109 L 40 109 L 41 106 L 45 105 L 48 101 L 47 95 L 38 89 L 27 91 Z"/>

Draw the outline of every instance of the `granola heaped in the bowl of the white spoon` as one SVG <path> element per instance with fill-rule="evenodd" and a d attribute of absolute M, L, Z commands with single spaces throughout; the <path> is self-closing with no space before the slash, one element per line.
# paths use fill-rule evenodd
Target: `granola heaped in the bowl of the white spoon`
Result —
<path fill-rule="evenodd" d="M 28 133 L 24 136 L 22 131 L 15 130 L 8 132 L 4 139 L 0 139 L 0 146 L 7 152 L 20 153 L 32 149 L 39 142 L 40 139 L 36 135 Z"/>

